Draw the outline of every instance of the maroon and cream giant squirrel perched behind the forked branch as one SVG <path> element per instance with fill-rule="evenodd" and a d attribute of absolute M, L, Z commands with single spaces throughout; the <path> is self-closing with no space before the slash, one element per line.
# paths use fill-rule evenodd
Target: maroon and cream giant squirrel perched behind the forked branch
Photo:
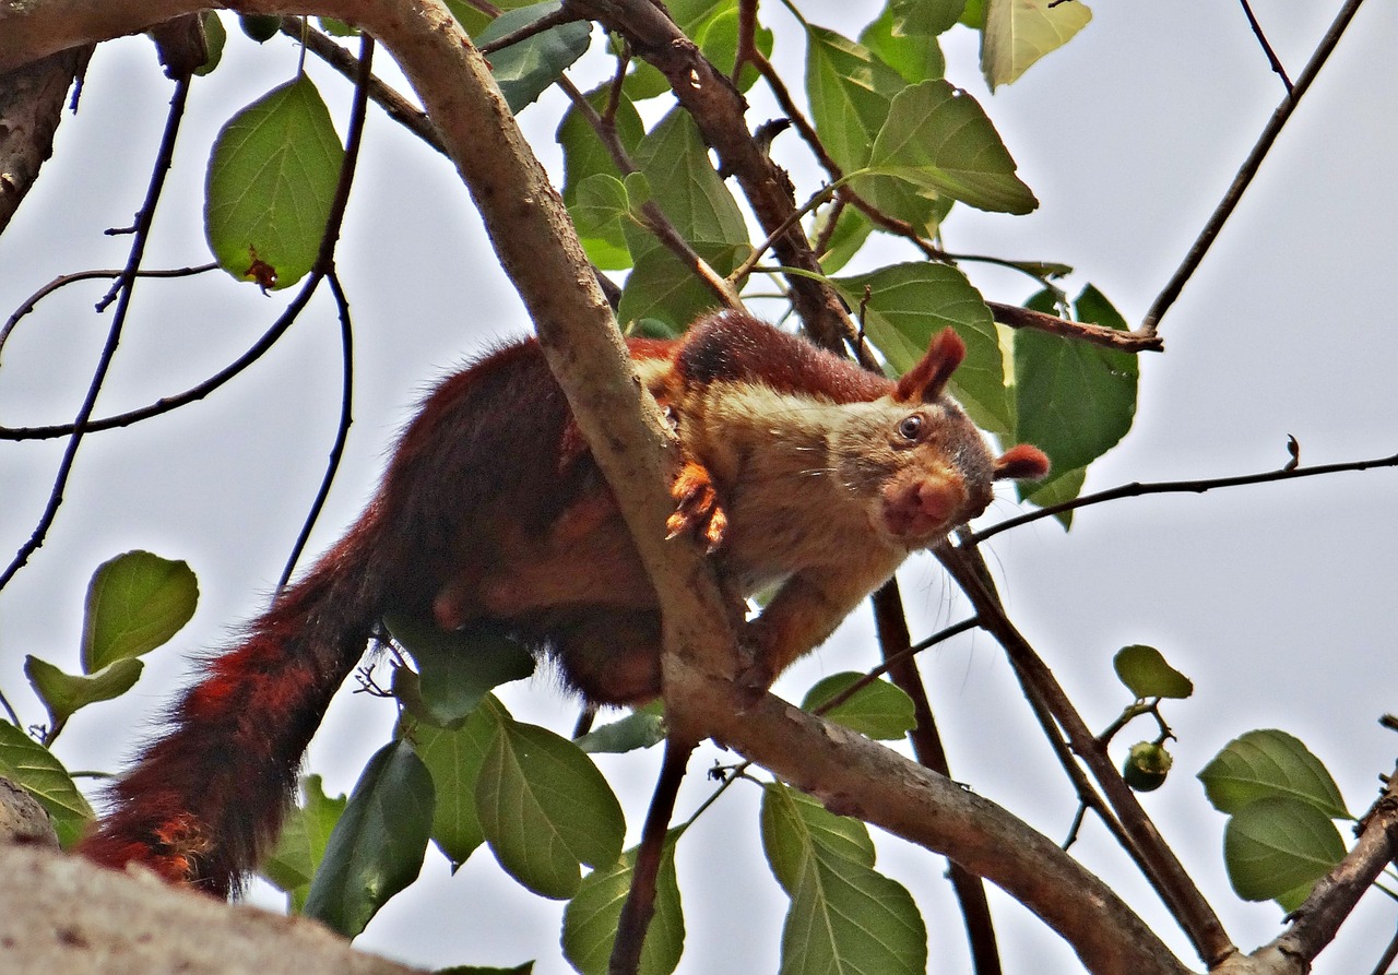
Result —
<path fill-rule="evenodd" d="M 941 398 L 959 349 L 955 337 L 934 342 L 910 406 L 891 380 L 737 313 L 678 342 L 632 342 L 685 453 L 671 528 L 717 549 L 741 589 L 787 580 L 752 633 L 772 673 L 892 573 L 907 553 L 898 532 L 945 532 L 979 513 L 993 476 L 1046 469 L 1018 447 L 993 471 L 979 433 Z M 763 395 L 801 408 L 744 416 L 738 401 L 763 390 L 759 408 Z M 898 423 L 909 411 L 928 420 L 914 439 Z M 787 427 L 790 443 L 773 443 Z M 802 437 L 829 439 L 829 460 L 801 454 L 815 450 Z M 769 471 L 826 493 L 766 483 Z M 893 541 L 865 508 L 882 511 Z M 426 399 L 358 524 L 186 691 L 82 851 L 235 890 L 275 837 L 301 756 L 386 615 L 498 626 L 554 655 L 594 703 L 660 693 L 656 594 L 534 341 L 498 349 Z"/>

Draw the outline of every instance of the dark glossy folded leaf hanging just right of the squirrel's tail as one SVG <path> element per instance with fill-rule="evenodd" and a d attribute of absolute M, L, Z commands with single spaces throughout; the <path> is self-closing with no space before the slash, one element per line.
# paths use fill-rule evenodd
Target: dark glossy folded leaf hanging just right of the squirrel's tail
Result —
<path fill-rule="evenodd" d="M 310 881 L 305 914 L 345 937 L 417 880 L 432 833 L 432 775 L 408 742 L 365 765 Z"/>

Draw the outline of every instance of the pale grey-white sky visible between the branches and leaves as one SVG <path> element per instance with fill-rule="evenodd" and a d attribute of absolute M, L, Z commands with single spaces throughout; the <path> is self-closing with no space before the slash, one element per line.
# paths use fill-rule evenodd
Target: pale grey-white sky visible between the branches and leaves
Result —
<path fill-rule="evenodd" d="M 872 4 L 819 6 L 802 8 L 850 35 L 874 13 Z M 1255 4 L 1292 77 L 1338 6 Z M 1028 218 L 958 208 L 945 228 L 946 246 L 1072 264 L 1072 293 L 1090 281 L 1134 323 L 1282 89 L 1237 4 L 1097 0 L 1095 14 L 1067 49 L 994 96 L 980 81 L 972 35 L 952 35 L 948 77 L 981 99 L 1042 207 Z M 800 38 L 776 4 L 765 4 L 762 15 L 779 31 L 779 63 L 795 85 Z M 208 260 L 194 203 L 208 145 L 222 120 L 295 68 L 289 42 L 257 49 L 236 27 L 231 31 L 224 64 L 194 85 L 150 267 Z M 1142 362 L 1135 429 L 1092 468 L 1089 490 L 1276 468 L 1286 461 L 1288 433 L 1300 440 L 1307 464 L 1398 450 L 1398 342 L 1388 334 L 1391 268 L 1398 265 L 1395 41 L 1398 8 L 1367 4 L 1165 320 L 1169 352 Z M 377 67 L 389 67 L 382 54 Z M 312 73 L 343 134 L 348 87 L 319 66 Z M 4 314 L 57 274 L 124 261 L 127 239 L 101 232 L 130 223 L 140 205 L 169 89 L 150 42 L 98 52 L 80 115 L 64 122 L 55 161 L 0 236 Z M 776 115 L 759 95 L 754 102 L 749 122 Z M 555 173 L 558 109 L 551 96 L 521 116 Z M 777 140 L 776 155 L 798 182 L 809 176 L 794 135 Z M 871 264 L 900 253 L 878 246 Z M 317 550 L 358 513 L 386 444 L 426 384 L 492 338 L 528 328 L 454 172 L 379 112 L 369 120 L 340 265 L 356 325 L 356 422 L 313 539 Z M 967 267 L 997 300 L 1022 300 L 1033 291 L 1023 278 Z M 0 422 L 71 419 L 109 321 L 91 314 L 103 289 L 69 289 L 21 325 L 0 369 Z M 264 299 L 222 275 L 143 281 L 98 412 L 197 383 L 250 345 L 281 306 L 280 296 Z M 22 677 L 24 655 L 77 668 L 88 574 L 117 552 L 145 548 L 189 560 L 203 596 L 172 644 L 178 652 L 155 654 L 134 693 L 81 712 L 64 732 L 59 752 L 70 768 L 116 767 L 136 729 L 186 673 L 180 655 L 218 645 L 231 624 L 263 605 L 334 436 L 338 355 L 333 307 L 319 296 L 270 355 L 210 399 L 84 441 L 48 543 L 0 594 L 0 689 L 27 721 L 42 719 Z M 4 559 L 28 538 L 60 448 L 0 448 Z M 1144 803 L 1244 948 L 1276 933 L 1279 911 L 1232 894 L 1220 858 L 1223 817 L 1192 774 L 1236 735 L 1275 726 L 1300 736 L 1329 765 L 1352 812 L 1369 806 L 1376 777 L 1392 770 L 1398 752 L 1394 735 L 1376 724 L 1398 710 L 1398 610 L 1390 595 L 1398 574 L 1395 488 L 1398 471 L 1376 471 L 1125 500 L 1079 513 L 1068 535 L 1037 522 L 990 545 L 1014 617 L 1089 725 L 1104 726 L 1127 703 L 1110 666 L 1123 644 L 1153 644 L 1194 679 L 1195 696 L 1166 711 L 1180 736 L 1176 774 Z M 1007 496 L 986 521 L 1014 510 Z M 930 559 L 909 563 L 900 581 L 914 636 L 967 613 Z M 779 690 L 795 697 L 823 673 L 865 668 L 874 659 L 868 630 L 861 612 Z M 956 778 L 1062 837 L 1074 796 L 994 641 L 963 638 L 925 655 L 923 668 Z M 562 732 L 576 711 L 547 677 L 506 697 L 519 717 Z M 348 791 L 391 722 L 390 704 L 341 694 L 309 768 L 324 772 L 331 791 Z M 1153 733 L 1145 725 L 1139 731 L 1121 746 Z M 682 810 L 712 788 L 702 771 L 719 756 L 712 747 L 696 756 Z M 658 754 L 603 758 L 633 835 L 657 761 Z M 688 923 L 681 971 L 776 968 L 784 898 L 762 860 L 758 799 L 756 789 L 731 789 L 681 844 Z M 1089 821 L 1075 852 L 1118 886 L 1181 958 L 1195 961 L 1099 827 Z M 924 907 L 937 971 L 965 969 L 942 862 L 888 840 L 879 863 Z M 558 905 L 502 879 L 485 851 L 454 880 L 429 852 L 425 876 L 428 883 L 382 912 L 362 946 L 424 965 L 506 965 L 537 954 L 537 972 L 569 971 L 555 951 Z M 993 897 L 1008 971 L 1076 969 L 1053 932 L 1008 898 Z M 1369 971 L 1394 914 L 1391 901 L 1370 894 L 1317 971 Z"/>

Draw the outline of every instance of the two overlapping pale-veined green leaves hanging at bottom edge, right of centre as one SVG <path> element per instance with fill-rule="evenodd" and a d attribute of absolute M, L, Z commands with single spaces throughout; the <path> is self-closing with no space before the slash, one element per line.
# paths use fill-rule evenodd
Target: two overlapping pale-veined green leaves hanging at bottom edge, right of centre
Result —
<path fill-rule="evenodd" d="M 927 928 L 911 895 L 872 869 L 863 824 L 769 785 L 762 837 L 773 873 L 791 897 L 781 932 L 781 972 L 923 975 Z M 780 865 L 780 866 L 779 866 Z"/>

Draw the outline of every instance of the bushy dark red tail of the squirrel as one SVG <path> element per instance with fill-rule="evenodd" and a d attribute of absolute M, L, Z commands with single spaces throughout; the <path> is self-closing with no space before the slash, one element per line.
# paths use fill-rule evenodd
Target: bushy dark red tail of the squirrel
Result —
<path fill-rule="evenodd" d="M 238 890 L 275 838 L 301 757 L 382 609 L 369 522 L 211 661 L 168 733 L 112 788 L 85 856 L 144 863 L 218 897 Z"/>

